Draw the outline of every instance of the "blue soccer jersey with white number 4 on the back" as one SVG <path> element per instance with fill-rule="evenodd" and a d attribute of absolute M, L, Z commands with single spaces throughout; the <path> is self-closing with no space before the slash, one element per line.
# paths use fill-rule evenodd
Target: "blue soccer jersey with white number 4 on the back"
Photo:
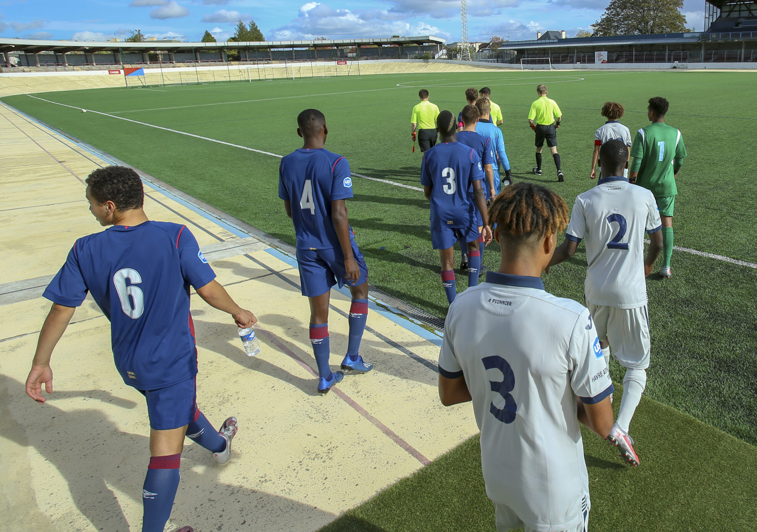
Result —
<path fill-rule="evenodd" d="M 350 163 L 329 150 L 300 148 L 279 166 L 279 198 L 291 202 L 298 249 L 341 247 L 331 203 L 352 197 Z"/>

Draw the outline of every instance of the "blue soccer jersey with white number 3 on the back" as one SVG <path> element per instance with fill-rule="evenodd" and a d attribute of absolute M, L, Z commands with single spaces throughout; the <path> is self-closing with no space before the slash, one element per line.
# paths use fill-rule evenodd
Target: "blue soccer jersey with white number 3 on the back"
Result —
<path fill-rule="evenodd" d="M 459 142 L 437 144 L 423 154 L 421 184 L 431 187 L 431 230 L 469 227 L 474 219 L 468 196 L 472 181 L 484 178 L 481 158 Z"/>

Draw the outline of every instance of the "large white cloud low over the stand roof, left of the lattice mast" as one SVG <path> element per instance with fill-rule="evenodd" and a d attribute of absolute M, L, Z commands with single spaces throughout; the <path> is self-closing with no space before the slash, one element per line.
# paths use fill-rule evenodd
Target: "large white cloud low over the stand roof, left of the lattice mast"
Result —
<path fill-rule="evenodd" d="M 391 10 L 390 10 L 391 11 Z M 271 31 L 274 40 L 315 39 L 331 37 L 344 39 L 350 37 L 389 37 L 392 35 L 435 35 L 449 36 L 449 33 L 425 22 L 408 23 L 396 20 L 394 14 L 369 11 L 366 17 L 348 9 L 332 9 L 326 4 L 308 2 L 299 11 L 291 23 Z M 213 34 L 215 35 L 215 34 Z"/>

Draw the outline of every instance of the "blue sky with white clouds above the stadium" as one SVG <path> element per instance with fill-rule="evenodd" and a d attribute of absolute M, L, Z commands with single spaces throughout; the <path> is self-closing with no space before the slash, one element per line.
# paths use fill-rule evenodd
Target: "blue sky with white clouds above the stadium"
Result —
<path fill-rule="evenodd" d="M 588 29 L 609 0 L 468 0 L 469 39 L 534 39 L 537 30 Z M 702 29 L 701 0 L 685 0 Z M 435 35 L 460 38 L 459 0 L 0 0 L 0 37 L 109 39 L 141 29 L 159 39 L 218 40 L 255 20 L 268 40 Z"/>

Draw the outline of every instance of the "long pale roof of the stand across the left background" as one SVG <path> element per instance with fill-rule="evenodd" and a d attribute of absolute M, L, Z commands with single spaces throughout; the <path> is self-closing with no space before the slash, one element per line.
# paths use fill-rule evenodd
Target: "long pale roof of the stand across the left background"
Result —
<path fill-rule="evenodd" d="M 48 41 L 38 39 L 0 38 L 0 52 L 23 52 L 38 54 L 42 51 L 67 53 L 86 51 L 219 51 L 223 49 L 257 49 L 280 50 L 282 48 L 334 48 L 353 46 L 407 46 L 407 45 L 444 45 L 447 41 L 435 36 L 390 37 L 387 39 L 333 39 L 328 41 L 262 41 L 262 42 L 176 42 L 176 41 Z"/>

